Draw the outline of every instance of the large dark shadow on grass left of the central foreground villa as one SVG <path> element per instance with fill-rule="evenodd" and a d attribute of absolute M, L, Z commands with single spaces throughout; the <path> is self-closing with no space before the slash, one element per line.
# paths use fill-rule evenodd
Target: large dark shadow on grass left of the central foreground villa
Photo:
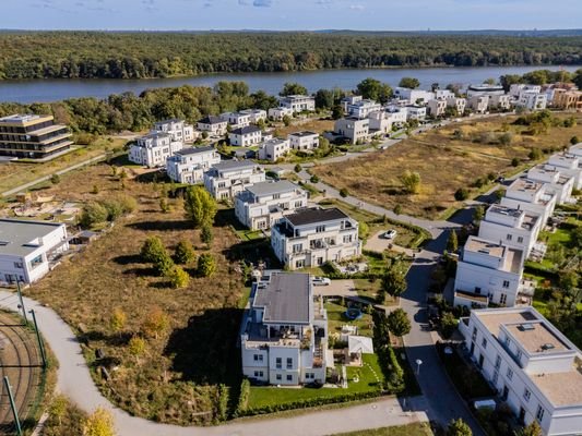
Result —
<path fill-rule="evenodd" d="M 237 340 L 242 310 L 211 308 L 194 315 L 183 328 L 175 329 L 164 355 L 171 359 L 171 370 L 182 379 L 197 384 L 240 382 L 240 352 Z"/>

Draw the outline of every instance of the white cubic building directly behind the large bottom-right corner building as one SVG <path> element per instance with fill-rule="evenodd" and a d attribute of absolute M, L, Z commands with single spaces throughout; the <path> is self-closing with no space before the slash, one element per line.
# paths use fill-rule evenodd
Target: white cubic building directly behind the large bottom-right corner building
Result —
<path fill-rule="evenodd" d="M 454 305 L 512 307 L 522 282 L 523 251 L 468 237 L 456 264 Z"/>

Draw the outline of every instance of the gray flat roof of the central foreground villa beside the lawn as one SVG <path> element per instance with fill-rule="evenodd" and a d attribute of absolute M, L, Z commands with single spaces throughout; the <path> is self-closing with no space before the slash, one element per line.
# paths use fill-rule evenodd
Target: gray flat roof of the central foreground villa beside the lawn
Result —
<path fill-rule="evenodd" d="M 263 323 L 310 322 L 311 280 L 309 274 L 273 272 L 266 286 L 259 283 L 253 307 L 264 307 Z"/>

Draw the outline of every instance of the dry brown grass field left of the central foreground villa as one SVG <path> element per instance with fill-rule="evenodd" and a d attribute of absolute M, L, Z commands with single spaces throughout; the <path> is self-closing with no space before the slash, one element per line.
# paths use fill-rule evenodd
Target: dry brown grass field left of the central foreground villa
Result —
<path fill-rule="evenodd" d="M 98 165 L 66 177 L 45 192 L 62 199 L 106 198 L 121 192 L 120 183 L 109 166 Z M 91 194 L 94 184 L 99 185 L 96 195 Z M 180 201 L 170 201 L 173 210 L 162 214 L 152 183 L 128 178 L 124 184 L 123 192 L 135 196 L 139 209 L 26 293 L 55 307 L 69 325 L 84 332 L 84 351 L 96 383 L 119 407 L 156 421 L 207 424 L 216 419 L 218 384 L 239 383 L 235 341 L 244 283 L 233 267 L 245 249 L 219 211 L 210 250 L 218 261 L 217 272 L 212 278 L 192 278 L 187 289 L 170 289 L 151 265 L 141 263 L 141 244 L 145 238 L 158 235 L 171 251 L 186 239 L 200 254 L 205 245 L 199 230 L 183 220 Z M 109 323 L 117 307 L 127 314 L 120 332 Z M 169 315 L 169 331 L 147 338 L 145 353 L 133 356 L 128 341 L 140 334 L 144 318 L 155 307 Z M 105 362 L 110 368 L 109 382 L 97 371 L 96 349 L 103 349 L 109 361 Z"/>

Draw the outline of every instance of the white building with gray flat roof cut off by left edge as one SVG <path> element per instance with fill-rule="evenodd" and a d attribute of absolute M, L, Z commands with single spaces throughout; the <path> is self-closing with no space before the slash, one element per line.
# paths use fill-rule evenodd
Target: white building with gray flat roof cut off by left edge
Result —
<path fill-rule="evenodd" d="M 33 283 L 69 250 L 63 223 L 0 219 L 0 283 Z"/>

